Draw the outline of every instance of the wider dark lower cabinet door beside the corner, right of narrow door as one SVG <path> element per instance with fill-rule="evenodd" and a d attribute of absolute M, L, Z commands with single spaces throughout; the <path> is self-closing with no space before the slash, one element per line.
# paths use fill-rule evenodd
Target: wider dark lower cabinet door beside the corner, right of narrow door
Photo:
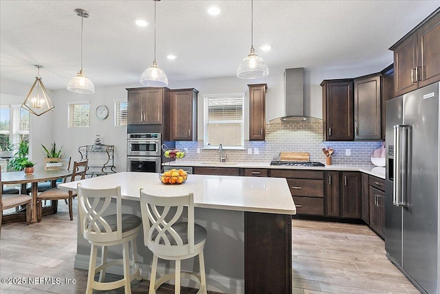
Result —
<path fill-rule="evenodd" d="M 362 218 L 361 176 L 357 171 L 342 173 L 342 218 Z"/>

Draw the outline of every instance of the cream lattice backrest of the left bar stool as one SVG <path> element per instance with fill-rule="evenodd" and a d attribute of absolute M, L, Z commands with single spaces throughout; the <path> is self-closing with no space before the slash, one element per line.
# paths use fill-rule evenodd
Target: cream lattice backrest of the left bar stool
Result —
<path fill-rule="evenodd" d="M 89 189 L 78 183 L 78 218 L 80 231 L 86 240 L 92 242 L 112 242 L 122 239 L 121 187 Z M 104 218 L 105 211 L 116 197 L 116 227 Z"/>

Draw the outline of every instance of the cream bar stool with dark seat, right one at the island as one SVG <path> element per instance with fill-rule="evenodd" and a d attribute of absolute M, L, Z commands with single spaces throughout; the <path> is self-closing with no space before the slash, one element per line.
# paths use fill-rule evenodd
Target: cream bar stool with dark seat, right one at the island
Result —
<path fill-rule="evenodd" d="M 144 244 L 153 252 L 151 266 L 150 294 L 157 288 L 175 280 L 175 294 L 180 293 L 181 277 L 196 282 L 197 293 L 207 293 L 203 248 L 206 242 L 206 229 L 194 220 L 194 196 L 192 193 L 181 196 L 154 196 L 140 190 Z M 184 207 L 188 207 L 187 222 L 183 217 Z M 200 275 L 181 271 L 181 260 L 199 255 Z M 157 260 L 175 260 L 175 273 L 168 273 L 156 281 Z"/>

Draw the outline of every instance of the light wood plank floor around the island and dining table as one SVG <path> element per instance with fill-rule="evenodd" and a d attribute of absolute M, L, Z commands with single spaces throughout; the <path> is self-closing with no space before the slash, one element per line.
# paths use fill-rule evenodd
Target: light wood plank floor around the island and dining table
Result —
<path fill-rule="evenodd" d="M 76 200 L 74 200 L 74 207 Z M 38 224 L 3 224 L 0 277 L 61 278 L 63 284 L 0 284 L 0 293 L 84 293 L 87 271 L 74 269 L 76 225 L 60 201 L 58 213 Z M 419 293 L 386 259 L 384 242 L 368 227 L 355 224 L 293 220 L 293 293 Z M 111 279 L 111 275 L 108 275 Z M 65 284 L 65 279 L 76 280 Z M 50 282 L 50 281 L 49 281 Z M 123 293 L 95 291 L 94 293 Z M 133 293 L 147 293 L 148 282 L 132 283 Z M 158 293 L 173 293 L 163 288 Z M 188 290 L 185 293 L 195 293 Z"/>

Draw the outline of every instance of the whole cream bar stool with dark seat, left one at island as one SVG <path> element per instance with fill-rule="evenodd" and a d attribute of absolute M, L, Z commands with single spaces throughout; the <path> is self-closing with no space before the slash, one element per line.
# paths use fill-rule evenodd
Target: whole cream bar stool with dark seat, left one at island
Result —
<path fill-rule="evenodd" d="M 86 293 L 96 290 L 111 290 L 124 286 L 124 292 L 131 293 L 131 281 L 142 280 L 139 264 L 137 264 L 136 238 L 142 228 L 142 220 L 138 216 L 122 213 L 121 187 L 105 189 L 89 189 L 81 183 L 77 185 L 78 219 L 80 232 L 91 244 L 89 274 L 87 276 Z M 116 198 L 116 207 L 110 206 L 112 198 Z M 109 214 L 111 213 L 111 214 Z M 129 258 L 131 243 L 132 258 Z M 122 259 L 107 262 L 107 247 L 122 245 Z M 96 266 L 98 247 L 101 247 L 101 262 Z M 104 282 L 107 267 L 122 264 L 124 277 L 114 282 Z M 130 274 L 130 266 L 132 272 Z M 98 281 L 96 273 L 100 272 Z"/>

